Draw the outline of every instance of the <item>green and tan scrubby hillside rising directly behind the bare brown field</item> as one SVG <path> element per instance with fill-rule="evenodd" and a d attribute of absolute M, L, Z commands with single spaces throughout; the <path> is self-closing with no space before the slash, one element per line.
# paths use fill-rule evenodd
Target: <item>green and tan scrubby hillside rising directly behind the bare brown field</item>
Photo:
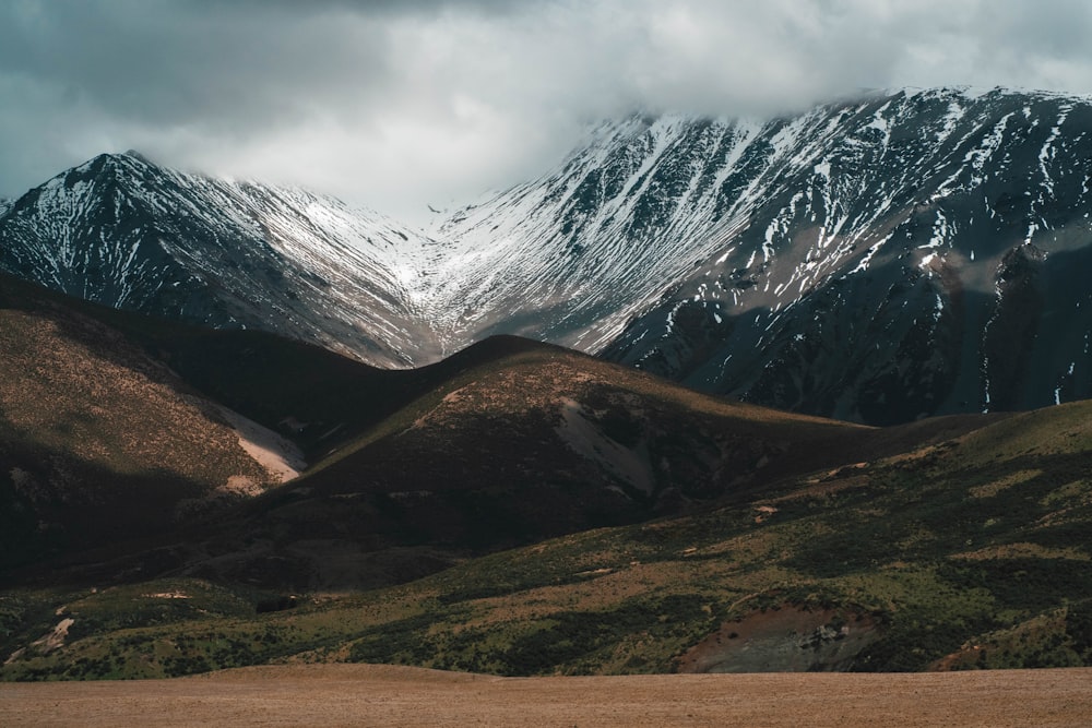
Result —
<path fill-rule="evenodd" d="M 1089 406 L 862 430 L 876 450 L 842 452 L 865 460 L 800 463 L 707 508 L 385 588 L 182 573 L 12 588 L 3 676 L 286 660 L 501 675 L 1088 665 Z"/>

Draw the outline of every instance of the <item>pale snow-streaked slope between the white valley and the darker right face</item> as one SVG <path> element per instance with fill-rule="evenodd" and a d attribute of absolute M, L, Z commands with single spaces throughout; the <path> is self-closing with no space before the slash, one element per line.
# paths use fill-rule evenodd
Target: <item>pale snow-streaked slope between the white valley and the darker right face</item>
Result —
<path fill-rule="evenodd" d="M 459 301 L 437 312 L 443 327 L 602 348 L 708 254 L 722 172 L 756 130 L 670 116 L 604 124 L 542 179 L 455 213 L 436 232 L 438 297 Z"/>

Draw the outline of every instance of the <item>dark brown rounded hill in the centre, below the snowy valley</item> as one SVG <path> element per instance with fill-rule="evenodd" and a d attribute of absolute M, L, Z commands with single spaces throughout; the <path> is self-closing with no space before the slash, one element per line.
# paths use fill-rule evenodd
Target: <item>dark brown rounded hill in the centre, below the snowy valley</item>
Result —
<path fill-rule="evenodd" d="M 747 500 L 785 478 L 985 421 L 877 430 L 790 415 L 512 337 L 416 377 L 385 402 L 425 394 L 302 477 L 121 564 L 82 560 L 81 572 L 289 590 L 383 586 L 563 534 Z M 369 370 L 346 396 L 375 396 L 377 380 Z M 439 383 L 428 389 L 429 380 Z"/>

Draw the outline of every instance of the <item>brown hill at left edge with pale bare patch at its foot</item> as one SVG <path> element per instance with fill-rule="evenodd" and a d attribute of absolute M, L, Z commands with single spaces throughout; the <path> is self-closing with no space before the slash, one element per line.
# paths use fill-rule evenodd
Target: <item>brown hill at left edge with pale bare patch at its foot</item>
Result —
<path fill-rule="evenodd" d="M 295 474 L 286 444 L 57 297 L 0 288 L 0 564 L 252 497 Z"/>

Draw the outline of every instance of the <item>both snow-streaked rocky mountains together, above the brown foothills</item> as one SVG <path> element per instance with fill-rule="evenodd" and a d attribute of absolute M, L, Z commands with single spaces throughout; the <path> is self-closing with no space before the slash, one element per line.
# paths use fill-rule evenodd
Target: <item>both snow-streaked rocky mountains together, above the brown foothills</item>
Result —
<path fill-rule="evenodd" d="M 1029 408 L 1092 396 L 1090 130 L 1001 89 L 636 116 L 429 232 L 103 156 L 0 211 L 0 267 L 383 366 L 515 333 L 871 423 Z"/>

